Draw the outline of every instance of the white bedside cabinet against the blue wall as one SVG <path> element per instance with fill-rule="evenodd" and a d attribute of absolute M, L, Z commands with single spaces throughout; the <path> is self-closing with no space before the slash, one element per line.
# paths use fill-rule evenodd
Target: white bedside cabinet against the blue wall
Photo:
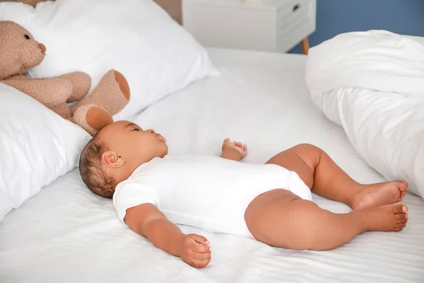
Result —
<path fill-rule="evenodd" d="M 288 52 L 314 32 L 316 0 L 183 0 L 183 25 L 208 47 Z"/>

